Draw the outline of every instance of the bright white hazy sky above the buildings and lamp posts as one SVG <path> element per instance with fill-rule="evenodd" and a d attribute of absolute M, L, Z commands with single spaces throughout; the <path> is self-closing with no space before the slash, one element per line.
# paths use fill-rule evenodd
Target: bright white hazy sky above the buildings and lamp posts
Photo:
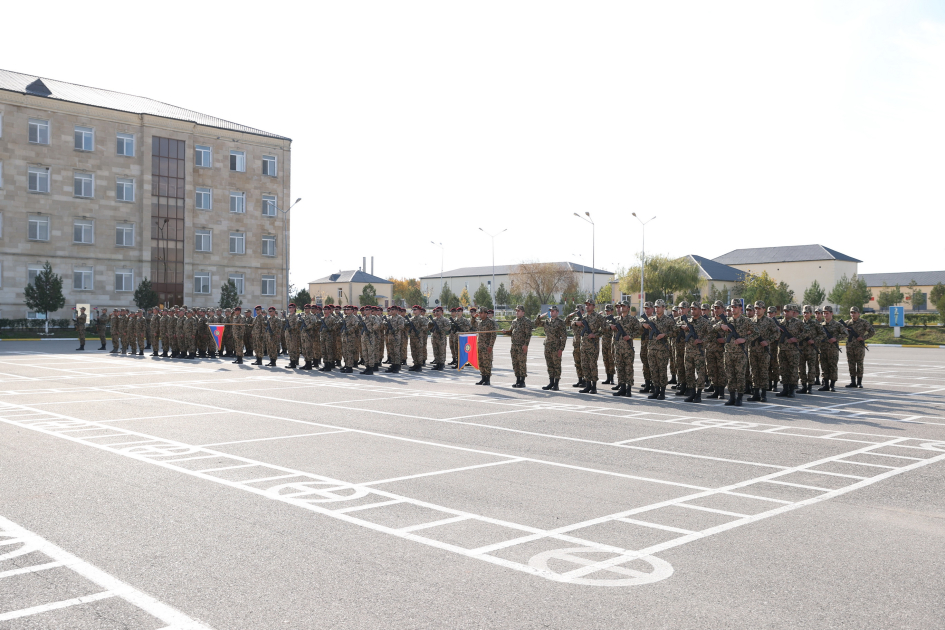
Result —
<path fill-rule="evenodd" d="M 945 268 L 945 3 L 5 3 L 0 67 L 289 136 L 292 280 L 820 243 Z M 370 263 L 369 263 L 370 265 Z"/>

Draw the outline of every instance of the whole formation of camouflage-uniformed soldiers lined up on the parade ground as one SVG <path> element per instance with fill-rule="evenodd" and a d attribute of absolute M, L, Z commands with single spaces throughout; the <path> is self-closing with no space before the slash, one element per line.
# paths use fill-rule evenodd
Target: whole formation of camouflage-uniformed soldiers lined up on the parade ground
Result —
<path fill-rule="evenodd" d="M 744 312 L 743 312 L 744 309 Z M 222 324 L 219 345 L 212 335 L 212 324 Z M 544 358 L 548 384 L 544 390 L 559 391 L 561 361 L 571 331 L 574 368 L 578 380 L 572 387 L 582 394 L 597 394 L 600 359 L 603 358 L 602 385 L 612 385 L 614 396 L 632 396 L 634 362 L 639 340 L 643 385 L 638 393 L 647 398 L 665 400 L 670 385 L 675 396 L 688 403 L 707 398 L 726 397 L 726 405 L 741 406 L 745 394 L 749 402 L 767 402 L 768 392 L 778 397 L 836 391 L 839 379 L 839 341 L 846 338 L 850 383 L 863 387 L 863 361 L 866 340 L 875 334 L 873 326 L 860 317 L 859 309 L 850 309 L 850 319 L 834 317 L 833 308 L 800 307 L 788 304 L 782 309 L 765 307 L 763 302 L 745 304 L 732 300 L 724 305 L 683 301 L 667 306 L 663 300 L 646 302 L 643 312 L 631 314 L 626 302 L 606 305 L 597 312 L 594 300 L 587 300 L 562 318 L 552 306 L 547 315 L 532 321 L 525 307 L 515 309 L 515 318 L 507 330 L 499 330 L 494 312 L 489 309 L 451 309 L 449 315 L 437 306 L 430 314 L 414 305 L 410 312 L 390 306 L 387 313 L 377 306 L 355 307 L 306 304 L 301 310 L 289 304 L 281 313 L 274 306 L 256 306 L 245 313 L 240 307 L 188 308 L 129 311 L 95 309 L 92 322 L 85 308 L 75 319 L 79 348 L 85 349 L 86 328 L 92 325 L 101 340 L 99 350 L 107 350 L 106 331 L 111 330 L 113 354 L 144 355 L 173 359 L 233 357 L 242 364 L 244 357 L 255 357 L 253 365 L 278 367 L 280 355 L 288 356 L 289 369 L 345 374 L 359 370 L 371 375 L 381 371 L 399 373 L 427 367 L 427 348 L 432 348 L 430 368 L 444 370 L 457 366 L 459 335 L 479 335 L 478 359 L 481 379 L 477 385 L 491 385 L 493 348 L 498 334 L 511 337 L 510 354 L 515 374 L 513 388 L 524 388 L 528 376 L 528 346 L 536 328 L 544 330 Z M 428 344 L 429 342 L 429 344 Z M 446 353 L 450 352 L 447 363 Z M 385 358 L 386 354 L 386 358 Z M 304 363 L 302 363 L 304 361 Z M 301 365 L 300 365 L 301 364 Z M 616 380 L 615 380 L 616 379 Z M 778 391 L 778 386 L 781 390 Z"/>

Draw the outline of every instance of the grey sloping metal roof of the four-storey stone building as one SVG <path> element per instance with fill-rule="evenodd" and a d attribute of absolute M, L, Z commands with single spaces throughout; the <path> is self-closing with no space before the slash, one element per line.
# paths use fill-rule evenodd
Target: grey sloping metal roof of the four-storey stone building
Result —
<path fill-rule="evenodd" d="M 238 131 L 256 136 L 267 136 L 270 138 L 280 138 L 282 140 L 291 140 L 285 136 L 280 136 L 261 129 L 254 129 L 246 125 L 208 116 L 199 112 L 168 105 L 154 99 L 143 96 L 133 96 L 122 92 L 113 92 L 101 88 L 86 87 L 76 85 L 75 83 L 65 83 L 55 79 L 39 78 L 32 74 L 22 74 L 11 70 L 0 70 L 0 90 L 8 92 L 20 92 L 21 94 L 31 94 L 41 96 L 56 101 L 68 101 L 70 103 L 81 103 L 82 105 L 91 105 L 93 107 L 104 107 L 105 109 L 115 109 L 132 114 L 150 114 L 151 116 L 161 116 L 162 118 L 173 118 L 175 120 L 186 120 L 188 122 L 215 127 L 218 129 L 227 129 L 229 131 Z"/>

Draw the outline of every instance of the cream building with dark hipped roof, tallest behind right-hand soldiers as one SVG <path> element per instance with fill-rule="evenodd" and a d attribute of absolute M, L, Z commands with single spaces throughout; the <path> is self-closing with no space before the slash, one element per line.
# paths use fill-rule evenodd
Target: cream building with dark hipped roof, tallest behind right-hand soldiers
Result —
<path fill-rule="evenodd" d="M 863 261 L 823 245 L 792 245 L 736 249 L 713 262 L 756 276 L 767 271 L 775 282 L 786 282 L 800 301 L 814 280 L 830 293 L 844 275 L 852 278 Z"/>

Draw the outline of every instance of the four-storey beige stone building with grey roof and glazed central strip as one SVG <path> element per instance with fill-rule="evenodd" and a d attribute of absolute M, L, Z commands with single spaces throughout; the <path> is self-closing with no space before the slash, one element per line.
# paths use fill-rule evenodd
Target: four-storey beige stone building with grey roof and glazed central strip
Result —
<path fill-rule="evenodd" d="M 0 70 L 0 315 L 46 261 L 75 304 L 285 301 L 291 140 L 138 96 Z"/>

